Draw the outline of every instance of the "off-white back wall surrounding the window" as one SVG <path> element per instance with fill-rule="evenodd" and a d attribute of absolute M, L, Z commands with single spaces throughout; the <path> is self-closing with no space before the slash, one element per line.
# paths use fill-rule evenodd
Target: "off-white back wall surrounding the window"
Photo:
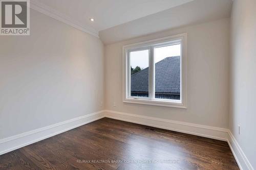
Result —
<path fill-rule="evenodd" d="M 122 45 L 185 32 L 188 33 L 187 109 L 122 103 Z M 104 63 L 106 109 L 227 128 L 229 18 L 106 45 Z"/>

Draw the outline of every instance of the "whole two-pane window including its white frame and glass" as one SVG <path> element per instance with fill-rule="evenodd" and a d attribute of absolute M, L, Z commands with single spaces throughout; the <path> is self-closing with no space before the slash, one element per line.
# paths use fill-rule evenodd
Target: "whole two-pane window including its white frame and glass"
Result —
<path fill-rule="evenodd" d="M 123 46 L 123 102 L 186 108 L 186 36 Z"/>

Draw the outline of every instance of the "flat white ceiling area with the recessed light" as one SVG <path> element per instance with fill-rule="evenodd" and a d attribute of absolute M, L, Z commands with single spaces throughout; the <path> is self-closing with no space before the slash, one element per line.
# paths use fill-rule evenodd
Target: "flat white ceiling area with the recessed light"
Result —
<path fill-rule="evenodd" d="M 193 0 L 31 0 L 31 3 L 98 32 L 191 1 Z M 90 21 L 90 18 L 95 21 Z"/>

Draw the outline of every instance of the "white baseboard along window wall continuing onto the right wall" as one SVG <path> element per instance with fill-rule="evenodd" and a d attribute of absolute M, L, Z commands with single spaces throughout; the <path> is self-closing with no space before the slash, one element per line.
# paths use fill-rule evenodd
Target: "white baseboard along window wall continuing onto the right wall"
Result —
<path fill-rule="evenodd" d="M 179 122 L 150 116 L 104 110 L 105 117 L 161 129 L 227 141 L 241 170 L 254 170 L 232 133 L 225 128 Z"/>

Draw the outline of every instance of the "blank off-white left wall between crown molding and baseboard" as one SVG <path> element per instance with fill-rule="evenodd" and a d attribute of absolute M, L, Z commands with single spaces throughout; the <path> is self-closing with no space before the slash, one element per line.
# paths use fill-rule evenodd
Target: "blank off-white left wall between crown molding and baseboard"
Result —
<path fill-rule="evenodd" d="M 102 42 L 30 16 L 30 36 L 0 36 L 0 139 L 103 109 Z"/>

